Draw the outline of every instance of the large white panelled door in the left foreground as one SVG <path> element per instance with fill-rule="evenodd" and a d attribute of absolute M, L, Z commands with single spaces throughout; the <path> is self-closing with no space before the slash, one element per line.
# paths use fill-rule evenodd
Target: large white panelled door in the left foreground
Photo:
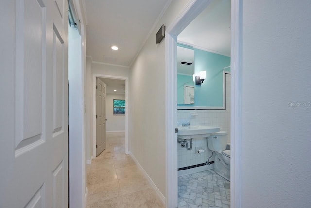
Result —
<path fill-rule="evenodd" d="M 13 77 L 6 90 L 11 91 L 8 95 L 14 95 L 12 105 L 1 111 L 10 112 L 14 122 L 12 131 L 1 135 L 4 141 L 1 151 L 5 151 L 6 161 L 1 160 L 0 164 L 3 169 L 0 207 L 65 208 L 68 207 L 68 1 L 4 1 L 1 4 L 6 4 L 8 10 L 13 4 L 15 7 L 7 14 L 0 13 L 0 19 L 15 19 L 15 25 L 4 28 L 1 25 L 3 30 L 13 31 L 15 37 L 10 49 L 7 45 L 11 44 L 10 37 L 1 35 L 1 39 L 8 40 L 4 48 L 8 48 L 8 53 L 13 51 L 13 64 L 3 61 L 5 70 L 13 71 L 13 76 L 6 74 L 7 78 Z"/>

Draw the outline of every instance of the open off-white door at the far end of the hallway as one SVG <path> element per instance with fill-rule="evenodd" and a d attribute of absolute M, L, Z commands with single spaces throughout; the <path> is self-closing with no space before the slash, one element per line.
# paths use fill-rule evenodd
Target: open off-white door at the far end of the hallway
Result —
<path fill-rule="evenodd" d="M 106 149 L 106 84 L 96 78 L 96 156 Z"/>

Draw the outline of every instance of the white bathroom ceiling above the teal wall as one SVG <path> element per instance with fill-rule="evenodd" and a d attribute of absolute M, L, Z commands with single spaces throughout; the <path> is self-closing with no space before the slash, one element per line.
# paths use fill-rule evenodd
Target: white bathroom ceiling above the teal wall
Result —
<path fill-rule="evenodd" d="M 230 56 L 230 0 L 213 0 L 177 37 L 178 42 Z"/>

